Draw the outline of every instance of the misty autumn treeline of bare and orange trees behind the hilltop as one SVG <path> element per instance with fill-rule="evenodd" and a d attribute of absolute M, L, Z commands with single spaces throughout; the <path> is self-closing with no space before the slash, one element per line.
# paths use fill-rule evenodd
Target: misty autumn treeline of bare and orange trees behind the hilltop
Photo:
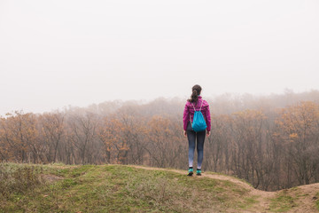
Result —
<path fill-rule="evenodd" d="M 206 100 L 212 134 L 206 139 L 203 170 L 245 178 L 268 191 L 319 182 L 319 91 Z M 44 114 L 6 114 L 0 120 L 0 162 L 186 170 L 185 103 L 111 101 Z"/>

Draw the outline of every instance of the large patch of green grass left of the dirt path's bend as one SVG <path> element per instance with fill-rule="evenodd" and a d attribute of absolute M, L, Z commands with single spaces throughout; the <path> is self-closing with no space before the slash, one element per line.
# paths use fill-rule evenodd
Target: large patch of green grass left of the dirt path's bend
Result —
<path fill-rule="evenodd" d="M 33 168 L 39 180 L 32 187 L 12 187 L 5 196 L 0 194 L 0 212 L 224 212 L 256 203 L 230 181 L 173 171 L 121 165 L 0 165 L 12 172 Z M 60 178 L 43 182 L 48 176 Z"/>

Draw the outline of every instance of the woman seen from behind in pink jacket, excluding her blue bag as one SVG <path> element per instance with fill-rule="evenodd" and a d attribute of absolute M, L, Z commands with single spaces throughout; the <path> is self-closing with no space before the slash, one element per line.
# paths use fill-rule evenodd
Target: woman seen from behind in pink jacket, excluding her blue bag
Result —
<path fill-rule="evenodd" d="M 201 164 L 203 162 L 204 156 L 204 141 L 205 135 L 207 137 L 210 135 L 211 130 L 211 119 L 209 112 L 209 105 L 206 100 L 203 100 L 200 96 L 201 87 L 196 84 L 192 87 L 191 99 L 188 99 L 183 112 L 183 135 L 188 138 L 189 141 L 189 173 L 188 176 L 193 174 L 193 159 L 195 152 L 195 144 L 197 140 L 197 151 L 198 151 L 198 167 L 196 170 L 196 175 L 201 175 Z M 194 116 L 194 108 L 203 114 L 207 128 L 203 131 L 194 131 L 191 128 L 191 122 Z"/>

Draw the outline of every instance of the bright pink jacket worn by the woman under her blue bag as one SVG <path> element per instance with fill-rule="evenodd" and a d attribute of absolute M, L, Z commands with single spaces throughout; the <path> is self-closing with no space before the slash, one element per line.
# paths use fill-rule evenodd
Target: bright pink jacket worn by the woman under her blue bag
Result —
<path fill-rule="evenodd" d="M 205 120 L 206 120 L 206 125 L 207 131 L 211 130 L 211 118 L 210 118 L 210 112 L 209 112 L 209 105 L 206 100 L 203 100 L 201 96 L 198 96 L 198 101 L 195 103 L 192 103 L 187 101 L 185 104 L 184 112 L 183 112 L 183 130 L 186 130 L 187 128 L 187 123 L 190 121 L 190 114 L 191 114 L 191 122 L 194 116 L 194 107 L 195 106 L 196 110 L 199 110 L 201 103 L 203 102 L 203 106 L 201 107 L 200 112 L 203 114 Z"/>

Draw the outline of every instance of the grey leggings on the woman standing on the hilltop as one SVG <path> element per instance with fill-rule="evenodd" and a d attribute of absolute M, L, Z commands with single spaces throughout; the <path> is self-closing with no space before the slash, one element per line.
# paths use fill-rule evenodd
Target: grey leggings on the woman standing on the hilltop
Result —
<path fill-rule="evenodd" d="M 194 161 L 195 143 L 197 140 L 197 151 L 198 151 L 198 169 L 201 169 L 204 156 L 204 141 L 206 130 L 195 132 L 191 130 L 191 122 L 187 124 L 187 138 L 189 141 L 189 166 L 192 167 Z"/>

